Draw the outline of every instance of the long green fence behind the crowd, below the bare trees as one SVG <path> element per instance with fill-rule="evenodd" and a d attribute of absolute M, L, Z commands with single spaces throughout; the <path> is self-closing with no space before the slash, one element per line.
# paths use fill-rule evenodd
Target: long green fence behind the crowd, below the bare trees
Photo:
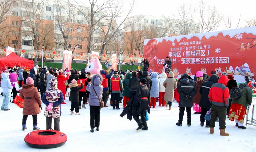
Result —
<path fill-rule="evenodd" d="M 38 62 L 38 65 L 42 65 L 42 62 Z M 101 64 L 101 65 L 102 65 L 102 68 L 107 69 L 105 64 Z M 44 66 L 47 66 L 47 67 L 51 66 L 52 68 L 61 69 L 62 68 L 62 63 L 59 63 L 59 62 L 44 62 Z M 71 68 L 81 70 L 83 68 L 86 68 L 86 64 L 85 63 L 72 63 Z M 139 66 L 138 65 L 122 65 L 122 70 L 123 71 L 126 71 L 127 69 L 136 70 L 136 69 L 139 69 Z M 119 64 L 117 65 L 116 70 L 119 70 Z M 141 66 L 141 70 L 143 70 L 143 66 Z"/>

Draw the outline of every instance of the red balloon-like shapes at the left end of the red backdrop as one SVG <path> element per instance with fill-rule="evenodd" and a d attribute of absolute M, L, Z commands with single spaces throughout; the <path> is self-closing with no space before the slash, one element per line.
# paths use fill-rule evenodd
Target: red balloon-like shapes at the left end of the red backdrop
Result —
<path fill-rule="evenodd" d="M 144 55 L 148 59 L 148 62 L 150 63 L 151 66 L 154 65 L 154 56 L 155 56 L 155 50 L 157 47 L 157 41 L 156 39 L 151 39 L 148 41 L 146 45 L 146 49 L 144 50 Z"/>

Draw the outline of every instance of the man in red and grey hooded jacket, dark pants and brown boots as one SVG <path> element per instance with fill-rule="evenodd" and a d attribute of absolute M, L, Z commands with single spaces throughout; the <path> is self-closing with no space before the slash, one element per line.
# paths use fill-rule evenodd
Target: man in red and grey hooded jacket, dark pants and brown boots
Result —
<path fill-rule="evenodd" d="M 210 119 L 210 134 L 214 133 L 215 121 L 219 117 L 219 130 L 221 136 L 229 136 L 225 133 L 226 113 L 229 106 L 229 89 L 227 86 L 229 79 L 226 75 L 221 75 L 218 83 L 212 85 L 209 91 L 209 100 L 212 103 L 212 114 Z"/>

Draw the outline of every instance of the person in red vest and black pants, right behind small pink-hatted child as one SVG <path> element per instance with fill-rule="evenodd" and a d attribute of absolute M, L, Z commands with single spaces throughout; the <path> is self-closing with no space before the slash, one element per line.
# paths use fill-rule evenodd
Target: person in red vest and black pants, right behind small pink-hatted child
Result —
<path fill-rule="evenodd" d="M 85 74 L 82 73 L 82 74 L 79 75 L 79 79 L 77 80 L 77 82 L 82 81 L 82 84 L 85 84 L 86 79 L 87 78 L 85 77 Z M 87 103 L 87 99 L 86 99 L 86 86 L 84 86 L 81 90 L 79 90 L 79 103 L 78 103 L 79 109 L 81 109 L 82 97 L 83 97 L 82 108 L 86 109 L 86 107 L 85 107 L 85 104 Z"/>

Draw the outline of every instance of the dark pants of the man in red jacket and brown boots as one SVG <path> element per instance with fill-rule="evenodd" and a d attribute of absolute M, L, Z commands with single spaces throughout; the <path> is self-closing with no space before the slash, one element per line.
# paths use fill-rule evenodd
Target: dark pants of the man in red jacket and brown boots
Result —
<path fill-rule="evenodd" d="M 226 128 L 226 113 L 227 113 L 226 106 L 216 106 L 216 105 L 212 104 L 210 127 L 215 127 L 215 121 L 217 120 L 217 117 L 219 117 L 219 129 L 225 129 Z"/>

